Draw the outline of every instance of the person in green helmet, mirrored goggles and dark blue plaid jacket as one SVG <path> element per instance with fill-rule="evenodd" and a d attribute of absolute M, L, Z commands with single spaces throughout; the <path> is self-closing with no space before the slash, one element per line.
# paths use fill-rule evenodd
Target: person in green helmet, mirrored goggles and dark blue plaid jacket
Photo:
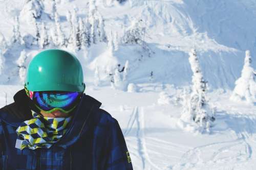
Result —
<path fill-rule="evenodd" d="M 37 54 L 25 88 L 0 109 L 0 169 L 133 169 L 117 120 L 85 88 L 76 57 Z"/>

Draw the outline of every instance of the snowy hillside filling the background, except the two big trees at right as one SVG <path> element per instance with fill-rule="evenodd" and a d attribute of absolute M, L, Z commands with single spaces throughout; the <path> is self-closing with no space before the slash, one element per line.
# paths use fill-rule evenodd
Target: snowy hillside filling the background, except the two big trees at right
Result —
<path fill-rule="evenodd" d="M 233 89 L 244 92 L 236 80 L 255 83 L 254 0 L 26 2 L 0 1 L 1 107 L 23 88 L 29 61 L 42 50 L 36 35 L 45 23 L 46 48 L 77 56 L 86 93 L 118 120 L 134 169 L 254 169 L 256 105 L 229 100 Z M 87 34 L 78 32 L 87 44 L 81 50 L 68 41 L 77 38 L 77 27 Z M 197 51 L 215 112 L 207 133 L 180 119 L 192 87 L 191 48 Z M 246 50 L 250 69 L 243 66 Z"/>

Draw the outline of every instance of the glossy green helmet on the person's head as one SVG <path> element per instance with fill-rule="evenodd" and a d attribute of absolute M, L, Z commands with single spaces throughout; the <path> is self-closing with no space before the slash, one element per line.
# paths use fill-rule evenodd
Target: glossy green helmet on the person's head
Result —
<path fill-rule="evenodd" d="M 82 66 L 78 59 L 63 50 L 45 50 L 30 62 L 25 87 L 29 91 L 83 92 Z"/>

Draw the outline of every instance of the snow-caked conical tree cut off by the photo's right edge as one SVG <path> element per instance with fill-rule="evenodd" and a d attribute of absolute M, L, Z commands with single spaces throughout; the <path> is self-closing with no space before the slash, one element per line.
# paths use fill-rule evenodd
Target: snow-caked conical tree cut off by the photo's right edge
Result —
<path fill-rule="evenodd" d="M 252 103 L 256 98 L 256 71 L 251 66 L 250 51 L 245 52 L 244 66 L 241 77 L 236 81 L 233 93 L 230 96 L 232 101 L 245 100 L 247 103 Z"/>

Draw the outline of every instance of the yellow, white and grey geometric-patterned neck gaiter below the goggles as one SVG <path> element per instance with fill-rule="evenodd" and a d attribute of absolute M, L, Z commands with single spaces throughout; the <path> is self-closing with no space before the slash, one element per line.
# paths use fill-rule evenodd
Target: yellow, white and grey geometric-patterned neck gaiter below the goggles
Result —
<path fill-rule="evenodd" d="M 18 135 L 16 148 L 23 150 L 29 148 L 50 148 L 67 131 L 70 117 L 44 117 L 32 111 L 33 118 L 26 120 L 17 128 Z"/>

